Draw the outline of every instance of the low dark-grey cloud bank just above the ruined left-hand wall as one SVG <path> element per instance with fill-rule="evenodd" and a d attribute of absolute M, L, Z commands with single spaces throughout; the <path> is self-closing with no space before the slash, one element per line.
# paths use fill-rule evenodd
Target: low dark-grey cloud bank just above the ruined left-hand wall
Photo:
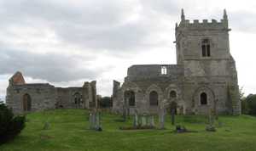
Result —
<path fill-rule="evenodd" d="M 20 70 L 25 76 L 50 82 L 95 79 L 103 69 L 90 70 L 84 60 L 74 55 L 61 53 L 29 53 L 9 48 L 0 50 L 0 75 L 14 74 Z"/>

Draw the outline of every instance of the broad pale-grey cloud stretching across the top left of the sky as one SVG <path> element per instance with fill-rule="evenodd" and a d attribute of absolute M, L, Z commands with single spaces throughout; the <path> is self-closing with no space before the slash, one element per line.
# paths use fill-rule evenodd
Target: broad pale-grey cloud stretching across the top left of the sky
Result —
<path fill-rule="evenodd" d="M 175 10 L 172 3 L 165 2 Z M 154 5 L 153 1 L 150 3 Z M 148 8 L 138 14 L 139 20 L 125 22 L 133 14 L 135 6 L 131 3 L 98 0 L 84 1 L 80 5 L 78 7 L 67 1 L 55 3 L 49 0 L 6 1 L 0 8 L 2 26 L 33 25 L 40 30 L 43 25 L 55 31 L 62 42 L 113 53 L 134 53 L 139 48 L 150 48 L 152 46 L 148 36 L 160 30 L 158 19 L 150 19 L 148 16 Z"/>

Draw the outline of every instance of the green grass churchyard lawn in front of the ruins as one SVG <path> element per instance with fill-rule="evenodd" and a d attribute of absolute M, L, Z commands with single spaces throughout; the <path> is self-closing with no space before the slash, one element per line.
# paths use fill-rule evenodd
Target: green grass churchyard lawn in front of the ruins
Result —
<path fill-rule="evenodd" d="M 256 118 L 248 115 L 220 116 L 223 126 L 216 132 L 205 131 L 203 116 L 177 116 L 190 133 L 173 133 L 166 117 L 166 130 L 119 130 L 132 126 L 132 120 L 120 122 L 119 115 L 102 115 L 103 131 L 88 129 L 88 112 L 83 109 L 58 109 L 27 115 L 26 128 L 13 142 L 0 146 L 1 151 L 230 151 L 256 150 Z M 50 123 L 43 130 L 44 121 Z M 157 122 L 155 122 L 157 124 Z"/>

